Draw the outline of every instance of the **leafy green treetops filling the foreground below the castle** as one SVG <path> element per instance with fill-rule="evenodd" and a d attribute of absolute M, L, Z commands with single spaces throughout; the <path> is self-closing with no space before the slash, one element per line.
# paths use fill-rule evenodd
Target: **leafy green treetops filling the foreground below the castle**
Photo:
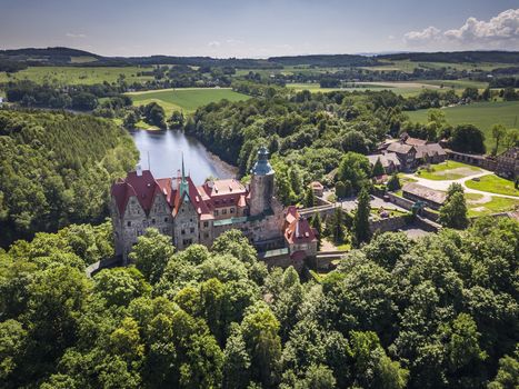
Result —
<path fill-rule="evenodd" d="M 268 270 L 240 231 L 88 278 L 111 225 L 0 251 L 2 388 L 513 388 L 519 225 L 383 233 L 326 277 Z M 50 341 L 52 339 L 52 341 Z"/>

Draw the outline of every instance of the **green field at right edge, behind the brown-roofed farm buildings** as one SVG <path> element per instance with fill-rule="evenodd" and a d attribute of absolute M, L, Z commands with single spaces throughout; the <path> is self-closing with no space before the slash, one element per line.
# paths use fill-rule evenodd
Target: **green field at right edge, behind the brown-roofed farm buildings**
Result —
<path fill-rule="evenodd" d="M 507 128 L 519 126 L 519 101 L 476 102 L 468 106 L 445 108 L 447 121 L 450 124 L 471 123 L 485 132 L 487 151 L 495 147 L 490 128 L 502 123 Z M 411 121 L 426 122 L 427 110 L 408 111 Z"/>

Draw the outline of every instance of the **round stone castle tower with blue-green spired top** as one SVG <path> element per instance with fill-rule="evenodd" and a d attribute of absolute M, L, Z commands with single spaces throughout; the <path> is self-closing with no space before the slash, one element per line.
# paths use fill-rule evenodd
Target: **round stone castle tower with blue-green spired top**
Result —
<path fill-rule="evenodd" d="M 250 215 L 257 216 L 271 208 L 275 171 L 269 163 L 269 151 L 261 147 L 258 160 L 250 171 Z"/>

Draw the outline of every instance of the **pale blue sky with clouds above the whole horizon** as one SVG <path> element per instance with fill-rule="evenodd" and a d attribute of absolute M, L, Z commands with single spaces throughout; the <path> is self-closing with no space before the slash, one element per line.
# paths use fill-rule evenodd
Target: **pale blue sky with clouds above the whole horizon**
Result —
<path fill-rule="evenodd" d="M 519 0 L 0 0 L 0 49 L 267 58 L 519 50 Z"/>

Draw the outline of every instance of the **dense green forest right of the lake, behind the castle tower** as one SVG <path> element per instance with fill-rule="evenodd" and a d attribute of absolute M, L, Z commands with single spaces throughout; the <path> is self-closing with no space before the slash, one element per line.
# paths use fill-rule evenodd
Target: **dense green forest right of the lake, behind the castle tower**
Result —
<path fill-rule="evenodd" d="M 278 197 L 286 205 L 300 201 L 303 184 L 310 181 L 333 183 L 345 153 L 373 153 L 388 133 L 445 138 L 453 150 L 485 151 L 485 134 L 475 126 L 449 126 L 439 109 L 430 111 L 426 123 L 411 122 L 405 112 L 448 104 L 458 99 L 452 91 L 426 90 L 408 99 L 391 91 L 288 94 L 273 87 L 257 91 L 269 98 L 201 107 L 186 120 L 184 130 L 238 166 L 242 174 L 252 167 L 258 148 L 267 144 L 277 171 Z M 479 98 L 477 90 L 475 97 Z"/>

